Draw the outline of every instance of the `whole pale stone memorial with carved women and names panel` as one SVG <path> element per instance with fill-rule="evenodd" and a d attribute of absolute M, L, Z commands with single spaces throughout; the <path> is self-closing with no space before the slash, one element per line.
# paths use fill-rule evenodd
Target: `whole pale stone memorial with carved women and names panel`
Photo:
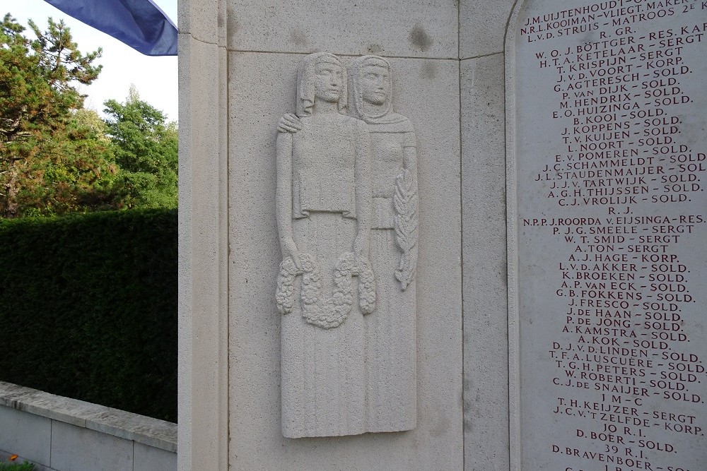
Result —
<path fill-rule="evenodd" d="M 705 467 L 707 4 L 179 25 L 180 470 Z"/>

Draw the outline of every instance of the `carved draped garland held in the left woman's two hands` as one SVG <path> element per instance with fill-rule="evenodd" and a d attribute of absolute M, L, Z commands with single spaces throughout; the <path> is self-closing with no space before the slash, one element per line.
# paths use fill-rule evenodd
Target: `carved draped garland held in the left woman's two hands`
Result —
<path fill-rule="evenodd" d="M 353 252 L 339 256 L 334 267 L 334 294 L 325 299 L 320 291 L 322 275 L 310 254 L 299 254 L 298 268 L 292 257 L 280 263 L 277 276 L 277 310 L 280 314 L 289 314 L 295 302 L 295 278 L 302 275 L 300 300 L 302 316 L 307 323 L 324 329 L 341 326 L 354 306 L 354 282 L 358 276 L 358 304 L 363 314 L 370 314 L 375 309 L 375 278 L 370 263 L 366 258 L 358 257 Z"/>

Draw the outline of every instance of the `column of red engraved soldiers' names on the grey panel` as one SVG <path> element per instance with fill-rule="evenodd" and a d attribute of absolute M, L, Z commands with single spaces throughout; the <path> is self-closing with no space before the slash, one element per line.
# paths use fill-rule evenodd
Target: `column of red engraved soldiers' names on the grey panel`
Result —
<path fill-rule="evenodd" d="M 681 13 L 665 2 L 619 2 L 631 3 L 609 11 L 611 22 L 587 16 L 599 40 L 558 48 L 548 41 L 535 52 L 539 68 L 555 72 L 551 119 L 563 121 L 558 152 L 535 181 L 558 213 L 523 224 L 551 227 L 567 247 L 556 295 L 568 309 L 549 350 L 559 372 L 551 381 L 563 390 L 553 412 L 573 424 L 589 419 L 571 443 L 604 445 L 554 444 L 552 451 L 621 469 L 680 469 L 670 434 L 703 435 L 699 419 L 671 403 L 702 402 L 691 389 L 704 368 L 687 345 L 690 319 L 682 314 L 696 299 L 689 264 L 673 249 L 704 223 L 703 214 L 682 214 L 677 205 L 703 191 L 704 154 L 679 135 L 694 85 L 683 52 L 705 30 L 689 12 L 705 6 L 684 2 Z M 650 23 L 681 14 L 686 21 L 677 28 Z M 528 23 L 543 28 L 542 20 Z M 597 448 L 607 456 L 587 451 Z"/>

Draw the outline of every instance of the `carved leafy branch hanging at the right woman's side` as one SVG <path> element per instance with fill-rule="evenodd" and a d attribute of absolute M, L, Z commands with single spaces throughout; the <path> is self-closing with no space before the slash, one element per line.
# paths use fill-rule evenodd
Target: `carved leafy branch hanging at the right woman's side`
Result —
<path fill-rule="evenodd" d="M 417 182 L 404 170 L 395 179 L 395 241 L 402 250 L 395 278 L 404 291 L 415 278 L 417 266 Z"/>

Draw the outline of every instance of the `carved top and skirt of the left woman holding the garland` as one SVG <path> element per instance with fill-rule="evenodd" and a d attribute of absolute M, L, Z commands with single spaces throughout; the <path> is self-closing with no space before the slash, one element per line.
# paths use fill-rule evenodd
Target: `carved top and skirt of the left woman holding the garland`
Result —
<path fill-rule="evenodd" d="M 315 258 L 320 295 L 331 297 L 337 259 L 354 249 L 358 143 L 366 143 L 367 154 L 369 138 L 363 122 L 351 117 L 302 121 L 292 143 L 293 233 L 300 254 Z M 354 302 L 344 323 L 321 328 L 303 318 L 302 306 L 298 297 L 281 324 L 283 434 L 361 434 L 366 431 L 363 314 Z"/>

